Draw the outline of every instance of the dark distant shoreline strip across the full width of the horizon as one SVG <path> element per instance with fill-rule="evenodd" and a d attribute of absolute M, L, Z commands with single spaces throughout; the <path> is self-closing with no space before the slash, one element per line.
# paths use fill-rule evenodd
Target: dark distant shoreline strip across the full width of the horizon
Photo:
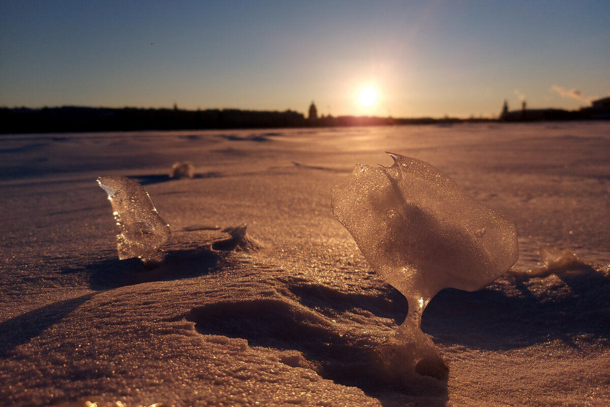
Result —
<path fill-rule="evenodd" d="M 134 107 L 45 107 L 43 109 L 1 108 L 0 134 L 273 129 L 353 126 L 395 126 L 409 124 L 506 123 L 531 121 L 610 120 L 608 109 L 587 107 L 568 111 L 534 109 L 509 112 L 503 118 L 393 118 L 375 116 L 322 116 L 308 119 L 293 110 L 261 111 L 239 109 L 182 110 Z"/>

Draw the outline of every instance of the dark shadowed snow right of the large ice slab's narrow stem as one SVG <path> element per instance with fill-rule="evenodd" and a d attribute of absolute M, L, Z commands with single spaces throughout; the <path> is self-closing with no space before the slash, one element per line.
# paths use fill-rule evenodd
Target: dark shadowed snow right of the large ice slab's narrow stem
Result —
<path fill-rule="evenodd" d="M 595 270 L 561 280 L 515 279 L 519 294 L 492 285 L 476 292 L 445 289 L 424 312 L 422 329 L 443 344 L 509 350 L 559 339 L 610 338 L 610 279 Z M 554 277 L 550 277 L 554 278 Z"/>

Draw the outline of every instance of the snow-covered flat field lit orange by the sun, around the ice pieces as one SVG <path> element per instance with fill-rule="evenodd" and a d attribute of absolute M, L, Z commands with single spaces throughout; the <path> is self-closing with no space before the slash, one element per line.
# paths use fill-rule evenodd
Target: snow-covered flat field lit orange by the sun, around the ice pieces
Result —
<path fill-rule="evenodd" d="M 407 303 L 332 215 L 384 151 L 517 227 L 511 272 L 423 314 L 446 381 L 380 367 Z M 102 175 L 148 190 L 162 264 L 118 260 Z M 2 135 L 0 187 L 1 406 L 610 404 L 610 123 Z M 243 223 L 259 250 L 211 247 Z M 581 261 L 525 275 L 540 248 Z"/>

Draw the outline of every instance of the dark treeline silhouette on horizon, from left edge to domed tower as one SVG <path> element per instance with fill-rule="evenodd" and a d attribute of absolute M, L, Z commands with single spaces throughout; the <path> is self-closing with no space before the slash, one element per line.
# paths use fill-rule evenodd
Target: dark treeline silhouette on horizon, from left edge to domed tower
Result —
<path fill-rule="evenodd" d="M 131 131 L 305 126 L 303 114 L 238 109 L 52 107 L 0 109 L 0 132 Z"/>

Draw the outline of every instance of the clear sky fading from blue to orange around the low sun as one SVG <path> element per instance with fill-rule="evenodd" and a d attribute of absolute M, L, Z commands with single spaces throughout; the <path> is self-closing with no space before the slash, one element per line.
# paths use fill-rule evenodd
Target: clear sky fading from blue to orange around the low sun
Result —
<path fill-rule="evenodd" d="M 0 106 L 578 109 L 609 95 L 609 21 L 603 0 L 0 0 Z"/>

